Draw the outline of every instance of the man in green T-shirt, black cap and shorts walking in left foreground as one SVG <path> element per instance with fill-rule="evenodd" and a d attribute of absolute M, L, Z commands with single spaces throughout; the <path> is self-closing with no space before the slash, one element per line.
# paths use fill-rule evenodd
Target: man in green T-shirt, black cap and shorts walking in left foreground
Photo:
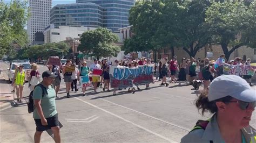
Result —
<path fill-rule="evenodd" d="M 55 89 L 52 82 L 57 75 L 50 70 L 46 70 L 42 74 L 43 81 L 37 85 L 33 92 L 33 118 L 36 123 L 35 142 L 40 142 L 43 131 L 51 129 L 55 138 L 55 142 L 60 142 L 59 120 L 55 104 Z"/>

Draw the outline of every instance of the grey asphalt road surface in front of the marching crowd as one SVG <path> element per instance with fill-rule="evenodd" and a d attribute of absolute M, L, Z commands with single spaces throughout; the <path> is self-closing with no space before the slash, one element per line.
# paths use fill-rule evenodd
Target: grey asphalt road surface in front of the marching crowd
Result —
<path fill-rule="evenodd" d="M 46 70 L 41 66 L 40 71 Z M 24 95 L 29 95 L 28 83 Z M 160 83 L 150 84 L 150 90 L 135 94 L 126 90 L 98 94 L 93 89 L 70 92 L 66 98 L 64 82 L 56 99 L 63 142 L 179 142 L 201 117 L 194 100 L 197 95 L 191 86 L 159 87 Z M 10 84 L 5 84 L 10 88 Z M 140 86 L 144 89 L 145 86 Z M 32 114 L 25 103 L 1 111 L 1 142 L 33 142 L 36 126 Z M 256 127 L 255 111 L 251 125 Z M 42 142 L 53 142 L 44 132 Z"/>

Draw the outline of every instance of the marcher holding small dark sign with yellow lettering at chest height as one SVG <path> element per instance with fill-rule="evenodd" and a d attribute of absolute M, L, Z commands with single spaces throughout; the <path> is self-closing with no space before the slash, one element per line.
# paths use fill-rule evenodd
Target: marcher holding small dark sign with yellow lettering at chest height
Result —
<path fill-rule="evenodd" d="M 70 88 L 71 88 L 71 83 L 72 83 L 72 72 L 71 70 L 67 70 L 69 67 L 71 67 L 71 61 L 66 60 L 66 65 L 63 68 L 62 74 L 64 75 L 64 82 L 66 83 L 66 97 L 69 98 L 70 94 Z"/>

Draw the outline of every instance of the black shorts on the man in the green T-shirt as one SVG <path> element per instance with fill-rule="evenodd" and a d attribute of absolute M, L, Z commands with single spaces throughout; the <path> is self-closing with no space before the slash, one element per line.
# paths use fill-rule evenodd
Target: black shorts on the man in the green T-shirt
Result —
<path fill-rule="evenodd" d="M 43 126 L 41 123 L 41 119 L 34 119 L 36 122 L 36 131 L 43 132 L 46 130 L 51 129 L 51 127 L 59 126 L 59 119 L 58 119 L 58 113 L 55 116 L 46 118 L 47 124 L 46 126 Z"/>

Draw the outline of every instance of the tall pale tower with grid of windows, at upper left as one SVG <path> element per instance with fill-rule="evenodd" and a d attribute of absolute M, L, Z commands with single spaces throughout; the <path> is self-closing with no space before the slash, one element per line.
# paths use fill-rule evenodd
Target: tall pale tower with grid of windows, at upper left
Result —
<path fill-rule="evenodd" d="M 44 44 L 44 28 L 50 24 L 52 0 L 29 0 L 30 19 L 27 33 L 31 45 Z"/>

